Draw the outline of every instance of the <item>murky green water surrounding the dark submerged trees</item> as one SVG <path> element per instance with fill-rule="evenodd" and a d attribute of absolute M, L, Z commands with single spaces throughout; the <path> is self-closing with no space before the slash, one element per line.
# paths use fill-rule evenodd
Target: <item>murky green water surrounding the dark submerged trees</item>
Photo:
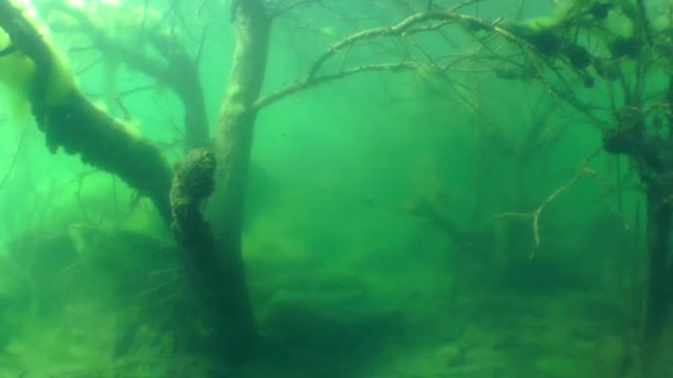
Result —
<path fill-rule="evenodd" d="M 290 8 L 275 20 L 262 96 L 303 77 L 332 43 L 428 2 L 292 3 L 268 2 Z M 234 55 L 229 2 L 115 7 L 128 19 L 158 10 L 190 56 L 200 51 L 215 137 Z M 490 0 L 460 11 L 511 20 L 555 7 Z M 143 34 L 111 30 L 158 59 Z M 76 31 L 53 35 L 82 93 L 131 117 L 170 165 L 184 158 L 170 87 Z M 503 43 L 454 27 L 376 40 L 324 70 Z M 451 82 L 427 70 L 356 74 L 260 111 L 242 230 L 259 339 L 236 357 L 209 349 L 194 272 L 153 203 L 77 156 L 51 154 L 33 119 L 0 106 L 0 377 L 669 377 L 670 332 L 643 368 L 635 164 L 602 151 L 601 130 L 539 81 L 469 62 Z M 607 106 L 607 87 L 578 93 Z"/>

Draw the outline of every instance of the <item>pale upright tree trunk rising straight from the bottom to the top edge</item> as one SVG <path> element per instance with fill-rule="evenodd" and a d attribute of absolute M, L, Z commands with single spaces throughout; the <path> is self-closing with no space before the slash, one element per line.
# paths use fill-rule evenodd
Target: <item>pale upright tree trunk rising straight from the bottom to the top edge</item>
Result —
<path fill-rule="evenodd" d="M 216 191 L 210 218 L 220 250 L 228 346 L 245 350 L 257 342 L 257 330 L 241 255 L 244 203 L 259 97 L 269 48 L 270 19 L 262 0 L 234 0 L 236 50 L 218 119 Z M 214 277 L 217 279 L 217 277 Z"/>

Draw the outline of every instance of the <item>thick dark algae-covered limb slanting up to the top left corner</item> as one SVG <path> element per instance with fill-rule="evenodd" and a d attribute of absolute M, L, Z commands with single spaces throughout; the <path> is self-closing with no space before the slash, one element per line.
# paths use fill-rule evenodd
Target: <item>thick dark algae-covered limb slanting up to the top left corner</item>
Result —
<path fill-rule="evenodd" d="M 65 62 L 35 22 L 9 0 L 0 0 L 0 28 L 9 34 L 15 54 L 32 62 L 27 69 L 31 78 L 28 101 L 50 150 L 62 147 L 79 154 L 84 162 L 117 175 L 148 196 L 170 223 L 170 167 L 148 140 L 82 95 Z"/>

